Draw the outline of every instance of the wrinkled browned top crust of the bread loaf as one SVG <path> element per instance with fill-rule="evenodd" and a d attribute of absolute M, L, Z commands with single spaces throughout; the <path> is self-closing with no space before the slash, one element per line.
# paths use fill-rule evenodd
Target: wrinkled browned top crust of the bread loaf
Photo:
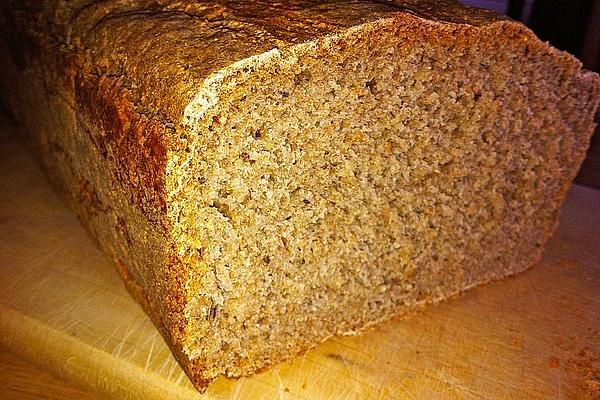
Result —
<path fill-rule="evenodd" d="M 249 56 L 409 13 L 483 25 L 503 17 L 453 0 L 26 1 L 30 29 L 85 55 L 90 72 L 121 77 L 148 111 L 173 122 L 211 73 Z"/>

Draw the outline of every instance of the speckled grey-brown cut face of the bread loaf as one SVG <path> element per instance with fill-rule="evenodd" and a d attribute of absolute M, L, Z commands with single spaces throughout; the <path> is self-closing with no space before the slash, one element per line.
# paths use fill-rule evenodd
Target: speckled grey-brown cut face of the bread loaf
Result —
<path fill-rule="evenodd" d="M 186 354 L 245 374 L 530 266 L 592 80 L 514 23 L 412 16 L 216 73 L 169 166 Z"/>

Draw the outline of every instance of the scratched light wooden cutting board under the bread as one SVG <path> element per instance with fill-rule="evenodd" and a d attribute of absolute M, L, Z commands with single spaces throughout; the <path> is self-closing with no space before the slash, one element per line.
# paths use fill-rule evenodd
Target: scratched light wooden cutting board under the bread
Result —
<path fill-rule="evenodd" d="M 118 399 L 600 398 L 600 192 L 531 270 L 197 394 L 116 269 L 0 129 L 0 344 Z"/>

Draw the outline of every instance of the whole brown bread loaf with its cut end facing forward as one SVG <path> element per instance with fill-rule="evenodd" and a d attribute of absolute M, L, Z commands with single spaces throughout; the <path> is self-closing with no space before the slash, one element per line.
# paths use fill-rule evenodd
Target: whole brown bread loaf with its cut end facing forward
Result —
<path fill-rule="evenodd" d="M 447 0 L 0 7 L 5 106 L 201 391 L 530 267 L 600 97 Z"/>

